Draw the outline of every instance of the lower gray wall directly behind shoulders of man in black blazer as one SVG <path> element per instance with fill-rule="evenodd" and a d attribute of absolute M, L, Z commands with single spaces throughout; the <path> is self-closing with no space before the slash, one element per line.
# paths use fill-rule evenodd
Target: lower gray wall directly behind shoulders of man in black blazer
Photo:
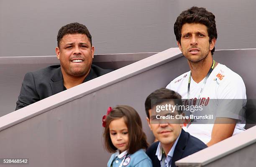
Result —
<path fill-rule="evenodd" d="M 93 63 L 105 69 L 118 69 L 156 53 L 95 55 Z M 0 117 L 14 111 L 25 74 L 59 64 L 56 56 L 0 57 Z"/>

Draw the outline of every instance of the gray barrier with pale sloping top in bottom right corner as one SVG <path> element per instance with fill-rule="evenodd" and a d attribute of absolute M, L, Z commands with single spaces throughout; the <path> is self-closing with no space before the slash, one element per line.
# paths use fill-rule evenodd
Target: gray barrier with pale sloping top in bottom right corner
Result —
<path fill-rule="evenodd" d="M 175 162 L 177 167 L 255 167 L 256 126 Z"/>

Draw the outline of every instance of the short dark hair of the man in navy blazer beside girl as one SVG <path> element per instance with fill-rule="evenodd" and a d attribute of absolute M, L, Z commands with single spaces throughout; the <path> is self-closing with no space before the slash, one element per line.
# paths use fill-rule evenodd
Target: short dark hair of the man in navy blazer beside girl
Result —
<path fill-rule="evenodd" d="M 177 99 L 174 101 L 175 104 L 182 106 L 182 96 L 180 96 L 177 92 L 172 91 L 170 89 L 166 89 L 166 88 L 161 88 L 161 89 L 157 89 L 156 91 L 153 91 L 150 95 L 148 95 L 148 97 L 146 98 L 145 101 L 145 110 L 146 110 L 146 114 L 148 119 L 149 118 L 149 113 L 148 110 L 151 109 L 152 104 L 152 100 L 157 100 L 154 103 L 154 106 L 163 103 L 163 102 L 167 102 L 169 101 L 168 99 Z M 163 100 L 160 100 L 163 99 Z M 181 114 L 183 111 L 182 110 L 177 110 L 179 114 Z"/>

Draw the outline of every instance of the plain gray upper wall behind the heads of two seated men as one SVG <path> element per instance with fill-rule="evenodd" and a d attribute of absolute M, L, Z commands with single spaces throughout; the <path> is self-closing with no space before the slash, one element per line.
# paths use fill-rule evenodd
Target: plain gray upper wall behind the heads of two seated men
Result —
<path fill-rule="evenodd" d="M 216 49 L 255 48 L 255 0 L 0 0 L 0 57 L 55 55 L 59 28 L 80 22 L 96 54 L 177 47 L 173 25 L 192 5 L 216 15 Z"/>

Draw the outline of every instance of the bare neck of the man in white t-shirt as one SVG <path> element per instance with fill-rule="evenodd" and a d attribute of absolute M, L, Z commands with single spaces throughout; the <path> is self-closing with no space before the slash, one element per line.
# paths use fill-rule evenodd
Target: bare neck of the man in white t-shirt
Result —
<path fill-rule="evenodd" d="M 199 62 L 192 62 L 189 60 L 187 60 L 187 62 L 189 64 L 189 68 L 191 70 L 191 76 L 192 76 L 193 80 L 196 83 L 199 83 L 200 81 L 202 81 L 203 78 L 205 78 L 205 76 L 209 72 L 209 69 L 212 66 L 212 53 L 211 53 L 211 51 L 209 51 L 206 58 L 202 59 Z M 217 63 L 216 63 L 216 65 L 217 65 Z"/>

